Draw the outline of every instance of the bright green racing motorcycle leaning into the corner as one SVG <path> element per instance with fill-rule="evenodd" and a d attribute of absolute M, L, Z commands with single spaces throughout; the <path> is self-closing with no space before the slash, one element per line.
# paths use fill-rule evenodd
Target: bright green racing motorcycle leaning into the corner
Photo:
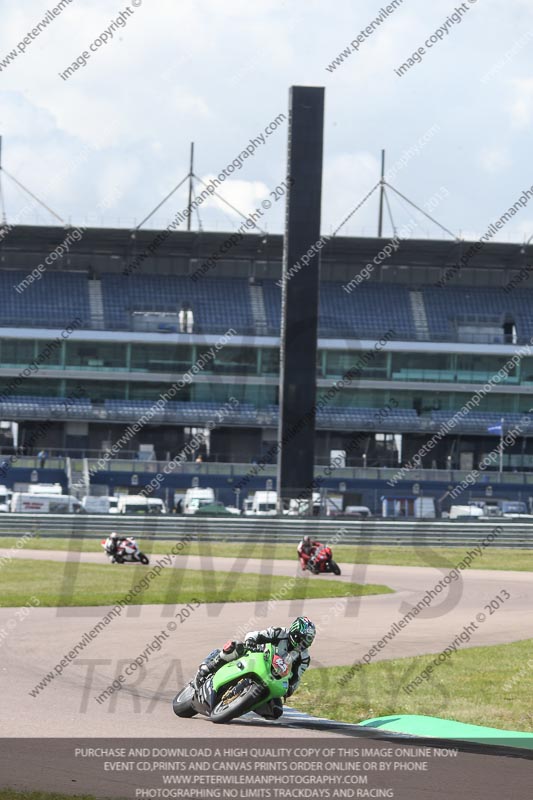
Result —
<path fill-rule="evenodd" d="M 254 645 L 236 661 L 223 664 L 197 685 L 191 681 L 178 692 L 172 708 L 178 717 L 203 714 L 212 722 L 230 722 L 257 710 L 274 697 L 284 697 L 292 670 L 290 658 L 273 644 Z"/>

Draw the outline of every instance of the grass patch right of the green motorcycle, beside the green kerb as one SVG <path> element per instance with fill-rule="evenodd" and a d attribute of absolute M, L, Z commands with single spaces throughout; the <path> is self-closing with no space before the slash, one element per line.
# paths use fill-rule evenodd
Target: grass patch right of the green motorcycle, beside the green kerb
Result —
<path fill-rule="evenodd" d="M 290 704 L 308 714 L 342 722 L 424 714 L 504 730 L 533 731 L 532 646 L 533 640 L 529 640 L 459 650 L 410 694 L 403 687 L 435 656 L 369 664 L 343 687 L 339 681 L 347 675 L 349 666 L 310 669 Z"/>

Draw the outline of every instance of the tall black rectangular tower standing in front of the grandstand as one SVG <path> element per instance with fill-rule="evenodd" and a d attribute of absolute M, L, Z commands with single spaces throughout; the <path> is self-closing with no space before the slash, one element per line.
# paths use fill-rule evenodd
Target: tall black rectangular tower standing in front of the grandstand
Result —
<path fill-rule="evenodd" d="M 293 86 L 281 301 L 278 495 L 310 497 L 315 454 L 324 89 Z"/>

